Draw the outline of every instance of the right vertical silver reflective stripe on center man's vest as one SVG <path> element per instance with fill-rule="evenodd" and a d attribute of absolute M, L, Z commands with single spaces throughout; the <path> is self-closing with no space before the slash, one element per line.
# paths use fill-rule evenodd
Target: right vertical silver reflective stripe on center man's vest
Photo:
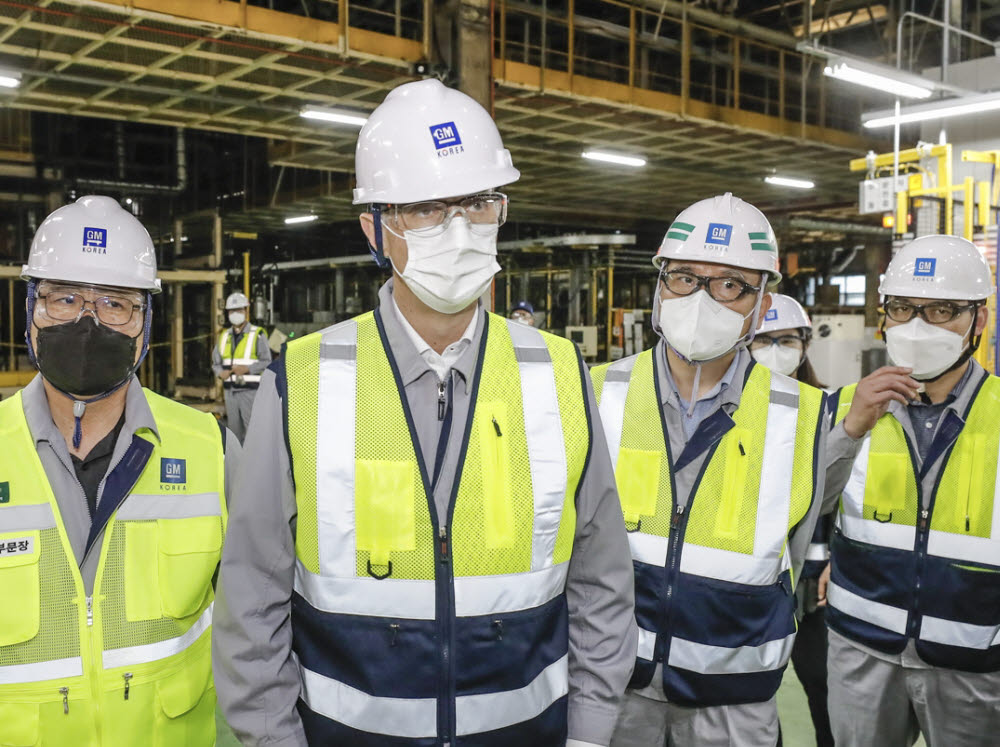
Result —
<path fill-rule="evenodd" d="M 555 369 L 545 340 L 538 330 L 526 324 L 512 321 L 506 324 L 521 374 L 524 435 L 528 442 L 535 510 L 531 568 L 536 570 L 551 566 L 553 561 L 559 521 L 566 502 L 566 445 L 559 415 Z M 526 578 L 527 581 L 529 579 Z"/>

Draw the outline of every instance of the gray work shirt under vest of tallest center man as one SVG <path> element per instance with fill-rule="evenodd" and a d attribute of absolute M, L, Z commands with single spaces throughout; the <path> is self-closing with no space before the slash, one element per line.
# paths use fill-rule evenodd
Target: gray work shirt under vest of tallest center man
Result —
<path fill-rule="evenodd" d="M 446 422 L 438 418 L 439 379 L 401 327 L 391 292 L 390 280 L 379 291 L 385 334 L 413 415 L 415 446 L 425 463 L 433 465 Z M 478 312 L 472 344 L 450 372 L 452 425 L 434 491 L 442 523 L 456 479 L 484 324 L 485 314 Z M 566 581 L 569 737 L 607 745 L 632 674 L 638 634 L 632 561 L 611 459 L 589 381 L 584 391 L 593 443 L 577 494 L 576 537 Z M 296 711 L 301 684 L 291 658 L 297 509 L 283 428 L 275 373 L 268 370 L 257 393 L 243 447 L 246 459 L 230 507 L 213 625 L 219 703 L 247 745 L 306 744 Z"/>

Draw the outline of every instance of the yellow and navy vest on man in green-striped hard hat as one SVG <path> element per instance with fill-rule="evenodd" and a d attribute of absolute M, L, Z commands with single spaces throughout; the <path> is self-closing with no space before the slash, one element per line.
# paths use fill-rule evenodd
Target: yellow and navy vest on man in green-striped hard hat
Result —
<path fill-rule="evenodd" d="M 682 455 L 670 452 L 659 365 L 651 349 L 592 372 L 636 573 L 631 686 L 648 685 L 662 663 L 672 702 L 765 701 L 795 638 L 787 539 L 813 500 L 824 395 L 751 363 L 732 418 L 712 416 L 685 507 L 674 499 Z"/>

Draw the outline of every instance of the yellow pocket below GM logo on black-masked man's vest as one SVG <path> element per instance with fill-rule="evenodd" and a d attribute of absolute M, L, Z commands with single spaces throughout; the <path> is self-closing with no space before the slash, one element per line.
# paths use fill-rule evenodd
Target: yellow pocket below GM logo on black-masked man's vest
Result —
<path fill-rule="evenodd" d="M 157 519 L 160 604 L 167 617 L 198 612 L 211 585 L 222 550 L 222 519 L 194 516 Z"/>

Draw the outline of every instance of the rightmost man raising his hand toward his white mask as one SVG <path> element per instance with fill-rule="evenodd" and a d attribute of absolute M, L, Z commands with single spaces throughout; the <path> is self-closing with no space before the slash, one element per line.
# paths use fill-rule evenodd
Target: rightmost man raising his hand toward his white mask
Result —
<path fill-rule="evenodd" d="M 971 242 L 911 241 L 879 286 L 894 365 L 836 400 L 831 475 L 850 476 L 826 592 L 838 745 L 1000 733 L 1000 379 L 971 359 L 993 290 Z"/>

